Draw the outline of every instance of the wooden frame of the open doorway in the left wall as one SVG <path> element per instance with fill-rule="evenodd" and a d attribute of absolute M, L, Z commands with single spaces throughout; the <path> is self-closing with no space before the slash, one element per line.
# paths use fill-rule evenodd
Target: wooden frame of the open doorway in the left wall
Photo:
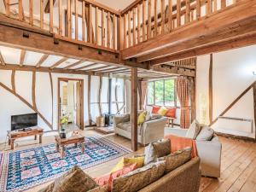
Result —
<path fill-rule="evenodd" d="M 61 119 L 60 119 L 60 116 L 61 116 L 61 107 L 60 107 L 60 104 L 61 104 L 61 101 L 60 101 L 60 83 L 61 81 L 79 81 L 80 82 L 80 127 L 79 129 L 80 130 L 84 130 L 84 79 L 73 79 L 73 78 L 58 78 L 58 96 L 57 96 L 57 103 L 58 103 L 58 130 L 60 130 L 60 125 L 61 125 Z"/>

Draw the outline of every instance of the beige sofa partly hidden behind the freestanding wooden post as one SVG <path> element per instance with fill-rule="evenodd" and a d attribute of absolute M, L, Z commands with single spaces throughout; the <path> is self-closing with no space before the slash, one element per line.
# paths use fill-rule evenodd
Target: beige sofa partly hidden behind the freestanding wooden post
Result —
<path fill-rule="evenodd" d="M 150 119 L 143 125 L 138 126 L 137 139 L 138 143 L 146 145 L 155 142 L 164 137 L 166 117 Z M 119 114 L 113 117 L 114 133 L 131 139 L 131 121 L 130 113 Z"/>

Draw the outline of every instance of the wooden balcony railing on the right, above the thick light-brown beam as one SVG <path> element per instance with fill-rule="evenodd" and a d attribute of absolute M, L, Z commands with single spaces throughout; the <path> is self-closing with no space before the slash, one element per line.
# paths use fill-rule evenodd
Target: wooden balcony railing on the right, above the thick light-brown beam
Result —
<path fill-rule="evenodd" d="M 137 0 L 121 12 L 121 49 L 170 33 L 237 0 Z"/>

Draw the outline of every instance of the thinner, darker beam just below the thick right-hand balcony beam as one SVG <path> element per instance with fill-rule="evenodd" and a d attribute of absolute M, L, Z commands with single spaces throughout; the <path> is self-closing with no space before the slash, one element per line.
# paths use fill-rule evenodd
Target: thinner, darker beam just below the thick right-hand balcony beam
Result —
<path fill-rule="evenodd" d="M 179 53 L 177 55 L 166 56 L 166 57 L 156 59 L 156 60 L 153 60 L 150 62 L 151 62 L 151 67 L 153 67 L 155 65 L 159 65 L 159 63 L 166 63 L 169 61 L 177 61 L 177 60 L 182 60 L 182 59 L 199 56 L 199 55 L 218 53 L 221 51 L 237 49 L 237 48 L 241 48 L 241 47 L 245 47 L 245 46 L 249 46 L 249 45 L 253 45 L 253 44 L 256 44 L 256 34 L 253 34 L 253 35 L 250 35 L 247 37 L 243 37 L 243 38 L 237 38 L 233 41 L 212 44 L 212 45 L 208 45 L 208 46 L 205 46 L 202 48 L 185 51 L 185 52 Z"/>

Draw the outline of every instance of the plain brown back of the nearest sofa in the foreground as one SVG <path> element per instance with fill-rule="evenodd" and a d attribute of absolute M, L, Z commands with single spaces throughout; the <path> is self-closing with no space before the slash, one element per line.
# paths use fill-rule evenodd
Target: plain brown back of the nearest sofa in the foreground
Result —
<path fill-rule="evenodd" d="M 200 159 L 189 160 L 139 192 L 198 192 L 201 182 Z"/>

